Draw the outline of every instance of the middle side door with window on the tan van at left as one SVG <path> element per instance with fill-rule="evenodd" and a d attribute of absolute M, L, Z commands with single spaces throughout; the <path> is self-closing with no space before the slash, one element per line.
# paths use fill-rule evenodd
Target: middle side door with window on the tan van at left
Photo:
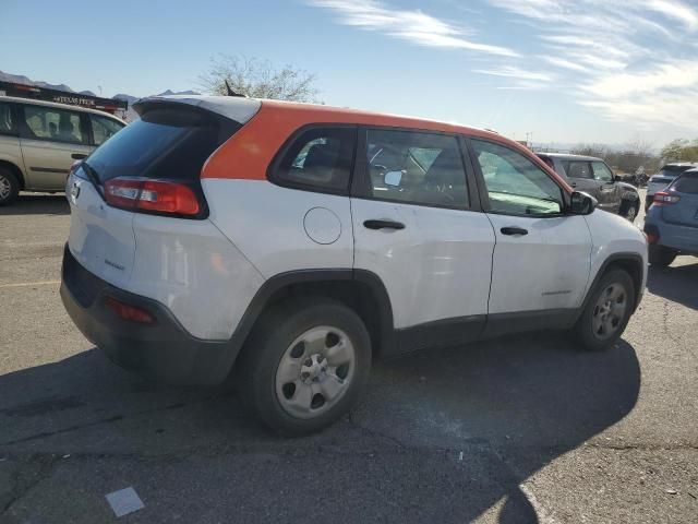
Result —
<path fill-rule="evenodd" d="M 84 112 L 24 104 L 20 114 L 27 189 L 62 191 L 73 155 L 93 150 Z"/>

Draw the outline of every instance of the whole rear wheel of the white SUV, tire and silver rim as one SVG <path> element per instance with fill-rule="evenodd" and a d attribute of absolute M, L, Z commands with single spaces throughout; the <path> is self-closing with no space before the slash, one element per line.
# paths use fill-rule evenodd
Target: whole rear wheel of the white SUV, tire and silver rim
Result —
<path fill-rule="evenodd" d="M 354 404 L 369 377 L 371 338 L 340 302 L 289 301 L 246 344 L 238 380 L 245 405 L 284 434 L 318 431 Z"/>

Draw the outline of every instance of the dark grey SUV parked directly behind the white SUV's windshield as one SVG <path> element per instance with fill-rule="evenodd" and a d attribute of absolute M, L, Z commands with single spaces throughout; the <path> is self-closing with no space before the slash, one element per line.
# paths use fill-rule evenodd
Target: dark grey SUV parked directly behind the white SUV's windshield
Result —
<path fill-rule="evenodd" d="M 599 209 L 615 213 L 634 222 L 640 211 L 640 195 L 635 186 L 622 182 L 601 158 L 537 153 L 545 164 L 565 177 L 573 188 L 591 194 L 599 201 Z"/>

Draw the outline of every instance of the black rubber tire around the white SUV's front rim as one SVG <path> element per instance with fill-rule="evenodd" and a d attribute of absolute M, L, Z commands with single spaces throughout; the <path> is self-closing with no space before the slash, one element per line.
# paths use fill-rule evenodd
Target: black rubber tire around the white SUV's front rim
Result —
<path fill-rule="evenodd" d="M 602 295 L 614 285 L 619 285 L 625 295 L 625 310 L 612 330 L 599 334 L 594 330 L 594 318 L 599 313 L 598 305 Z M 626 271 L 615 269 L 607 271 L 591 291 L 587 306 L 573 329 L 573 336 L 577 344 L 590 352 L 600 352 L 613 346 L 630 320 L 635 308 L 635 284 Z"/>

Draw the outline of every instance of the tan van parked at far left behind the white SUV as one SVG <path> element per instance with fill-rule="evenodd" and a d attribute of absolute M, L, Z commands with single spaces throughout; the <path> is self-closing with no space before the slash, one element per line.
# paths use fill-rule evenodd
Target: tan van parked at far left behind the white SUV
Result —
<path fill-rule="evenodd" d="M 63 191 L 73 162 L 124 126 L 94 109 L 0 96 L 0 205 L 21 190 Z"/>

